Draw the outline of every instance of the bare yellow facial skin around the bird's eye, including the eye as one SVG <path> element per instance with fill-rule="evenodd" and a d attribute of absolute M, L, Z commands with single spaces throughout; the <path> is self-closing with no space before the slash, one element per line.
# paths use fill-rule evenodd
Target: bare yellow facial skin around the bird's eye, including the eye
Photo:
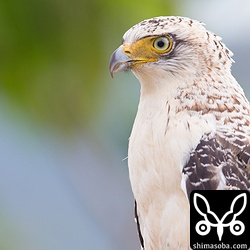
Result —
<path fill-rule="evenodd" d="M 150 36 L 121 47 L 123 52 L 135 62 L 155 62 L 161 54 L 169 52 L 172 45 L 173 42 L 169 36 Z"/>

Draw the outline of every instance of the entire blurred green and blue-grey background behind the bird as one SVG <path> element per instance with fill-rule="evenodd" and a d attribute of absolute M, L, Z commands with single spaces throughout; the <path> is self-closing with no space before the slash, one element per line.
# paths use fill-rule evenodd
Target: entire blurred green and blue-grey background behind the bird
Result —
<path fill-rule="evenodd" d="M 201 20 L 250 97 L 249 0 L 0 1 L 0 250 L 136 250 L 127 144 L 139 99 L 108 72 L 133 24 Z"/>

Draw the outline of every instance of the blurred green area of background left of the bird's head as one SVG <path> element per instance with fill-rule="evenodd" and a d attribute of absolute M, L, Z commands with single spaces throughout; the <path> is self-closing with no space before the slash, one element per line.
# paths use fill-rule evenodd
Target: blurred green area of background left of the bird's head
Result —
<path fill-rule="evenodd" d="M 162 9 L 173 3 L 1 1 L 2 92 L 38 123 L 88 129 L 108 98 L 110 53 L 128 27 Z"/>

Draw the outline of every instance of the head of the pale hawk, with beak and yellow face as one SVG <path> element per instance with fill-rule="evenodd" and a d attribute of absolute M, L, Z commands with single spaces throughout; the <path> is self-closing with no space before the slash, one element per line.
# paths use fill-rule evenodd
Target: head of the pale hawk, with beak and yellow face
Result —
<path fill-rule="evenodd" d="M 130 28 L 110 59 L 110 73 L 131 70 L 147 77 L 202 75 L 231 68 L 232 53 L 203 23 L 186 17 L 155 17 Z"/>

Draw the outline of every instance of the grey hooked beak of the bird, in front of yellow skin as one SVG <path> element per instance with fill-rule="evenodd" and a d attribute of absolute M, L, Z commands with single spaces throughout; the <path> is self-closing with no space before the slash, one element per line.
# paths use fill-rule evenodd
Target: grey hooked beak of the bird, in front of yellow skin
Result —
<path fill-rule="evenodd" d="M 130 70 L 133 59 L 126 55 L 120 46 L 114 51 L 109 62 L 109 72 L 114 77 L 115 72 L 128 71 Z"/>

